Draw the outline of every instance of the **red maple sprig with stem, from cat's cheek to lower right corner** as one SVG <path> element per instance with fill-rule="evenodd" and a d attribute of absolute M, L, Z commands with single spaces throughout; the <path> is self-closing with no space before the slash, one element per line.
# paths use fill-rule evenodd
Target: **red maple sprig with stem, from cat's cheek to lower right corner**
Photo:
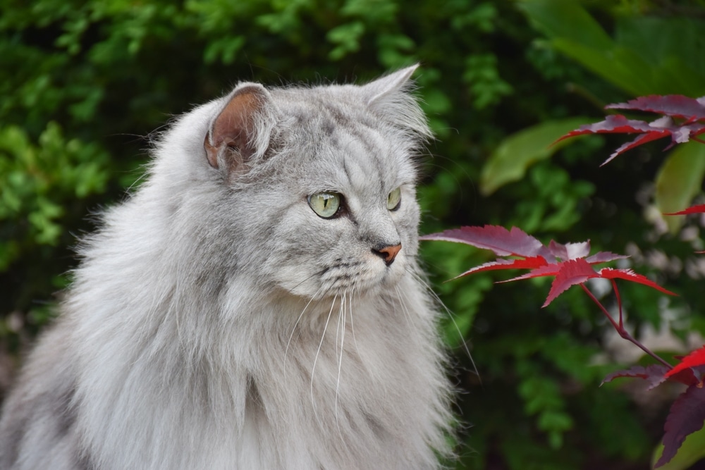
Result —
<path fill-rule="evenodd" d="M 705 206 L 704 206 L 705 208 Z M 688 209 L 689 211 L 692 210 Z M 703 209 L 703 208 L 701 208 Z M 482 249 L 490 249 L 499 257 L 495 261 L 475 266 L 459 277 L 467 276 L 481 271 L 493 271 L 497 269 L 528 269 L 529 272 L 522 276 L 517 276 L 506 281 L 536 278 L 539 276 L 554 276 L 551 290 L 548 292 L 544 307 L 553 302 L 565 290 L 572 285 L 580 285 L 583 290 L 596 302 L 606 318 L 612 323 L 615 330 L 625 338 L 633 342 L 644 352 L 650 354 L 661 364 L 651 366 L 635 366 L 625 371 L 611 373 L 605 378 L 603 383 L 610 382 L 618 377 L 642 378 L 649 383 L 649 389 L 654 388 L 666 381 L 680 382 L 688 386 L 687 390 L 678 400 L 673 403 L 670 409 L 663 435 L 663 454 L 656 463 L 661 466 L 670 461 L 675 456 L 680 445 L 690 433 L 694 433 L 703 427 L 705 422 L 705 389 L 703 388 L 703 377 L 705 376 L 705 347 L 701 350 L 689 354 L 682 359 L 680 364 L 671 367 L 654 352 L 648 350 L 644 345 L 625 330 L 622 318 L 622 305 L 619 292 L 615 283 L 616 279 L 630 280 L 652 287 L 664 294 L 675 295 L 673 292 L 664 289 L 641 274 L 637 274 L 631 269 L 602 268 L 596 270 L 595 264 L 623 259 L 627 256 L 610 252 L 598 252 L 590 254 L 590 243 L 566 243 L 561 244 L 551 240 L 548 246 L 541 243 L 531 235 L 527 235 L 520 228 L 513 227 L 507 230 L 496 225 L 484 225 L 484 227 L 462 227 L 453 230 L 446 230 L 441 233 L 434 233 L 421 237 L 421 240 L 445 240 L 448 242 L 465 243 Z M 509 257 L 509 258 L 507 258 Z M 611 314 L 603 307 L 594 295 L 585 287 L 584 283 L 591 278 L 604 278 L 611 280 L 619 307 L 619 319 L 615 321 Z"/>

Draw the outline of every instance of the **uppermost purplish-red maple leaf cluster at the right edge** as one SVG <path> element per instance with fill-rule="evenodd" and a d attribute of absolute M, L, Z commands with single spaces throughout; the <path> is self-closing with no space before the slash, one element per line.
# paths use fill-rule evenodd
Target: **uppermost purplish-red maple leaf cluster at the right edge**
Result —
<path fill-rule="evenodd" d="M 639 134 L 635 140 L 627 142 L 615 150 L 610 158 L 602 163 L 603 165 L 627 150 L 662 137 L 670 136 L 671 142 L 666 149 L 689 140 L 703 142 L 697 136 L 705 132 L 705 97 L 694 99 L 680 94 L 668 94 L 666 96 L 653 94 L 648 97 L 632 99 L 626 103 L 609 104 L 606 108 L 646 111 L 662 114 L 663 116 L 651 122 L 646 122 L 644 120 L 627 119 L 621 114 L 615 114 L 607 116 L 605 120 L 599 123 L 581 125 L 580 128 L 568 132 L 556 142 L 584 134 Z"/>

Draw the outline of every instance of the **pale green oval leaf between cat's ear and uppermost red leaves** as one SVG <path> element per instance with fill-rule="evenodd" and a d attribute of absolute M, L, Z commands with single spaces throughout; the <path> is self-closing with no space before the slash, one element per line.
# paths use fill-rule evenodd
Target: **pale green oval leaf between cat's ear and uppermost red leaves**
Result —
<path fill-rule="evenodd" d="M 589 118 L 584 117 L 548 120 L 510 135 L 482 168 L 480 192 L 486 196 L 507 183 L 521 180 L 529 166 L 547 159 L 568 143 L 563 140 L 551 145 L 558 137 L 588 121 Z"/>

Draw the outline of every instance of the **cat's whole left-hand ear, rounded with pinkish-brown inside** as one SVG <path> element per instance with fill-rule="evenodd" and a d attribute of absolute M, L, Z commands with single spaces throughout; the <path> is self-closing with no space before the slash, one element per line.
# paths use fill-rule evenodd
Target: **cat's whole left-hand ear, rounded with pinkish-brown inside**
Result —
<path fill-rule="evenodd" d="M 247 171 L 247 164 L 266 151 L 266 106 L 269 92 L 262 85 L 246 83 L 228 96 L 227 103 L 208 129 L 204 149 L 213 168 L 238 175 Z M 264 148 L 262 148 L 264 147 Z"/>

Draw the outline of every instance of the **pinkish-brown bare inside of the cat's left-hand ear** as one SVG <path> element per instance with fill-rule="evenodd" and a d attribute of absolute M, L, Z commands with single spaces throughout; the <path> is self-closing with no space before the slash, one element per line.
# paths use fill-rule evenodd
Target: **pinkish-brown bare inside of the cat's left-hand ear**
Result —
<path fill-rule="evenodd" d="M 219 168 L 218 156 L 225 154 L 228 173 L 241 170 L 255 153 L 252 140 L 255 135 L 255 113 L 263 104 L 259 87 L 245 87 L 235 92 L 209 130 L 204 148 L 208 163 Z"/>

